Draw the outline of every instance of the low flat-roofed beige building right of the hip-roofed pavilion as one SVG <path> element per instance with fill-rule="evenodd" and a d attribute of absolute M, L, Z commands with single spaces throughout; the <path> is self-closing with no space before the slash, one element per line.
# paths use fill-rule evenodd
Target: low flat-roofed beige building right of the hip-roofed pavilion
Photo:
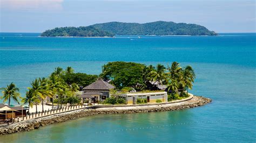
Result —
<path fill-rule="evenodd" d="M 161 102 L 167 102 L 167 92 L 131 92 L 127 94 L 119 95 L 125 97 L 127 104 L 136 104 L 138 98 L 147 99 L 147 103 L 156 103 L 157 100 Z"/>

